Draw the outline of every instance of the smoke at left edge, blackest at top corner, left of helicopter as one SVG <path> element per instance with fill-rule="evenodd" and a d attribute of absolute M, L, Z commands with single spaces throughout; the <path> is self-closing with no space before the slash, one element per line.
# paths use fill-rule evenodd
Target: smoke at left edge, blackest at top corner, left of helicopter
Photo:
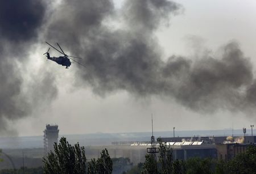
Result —
<path fill-rule="evenodd" d="M 32 80 L 23 77 L 28 51 L 38 39 L 46 8 L 41 0 L 0 0 L 1 135 L 15 133 L 9 121 L 28 116 L 36 105 L 56 96 L 51 74 L 41 72 L 36 78 L 31 75 Z"/>

